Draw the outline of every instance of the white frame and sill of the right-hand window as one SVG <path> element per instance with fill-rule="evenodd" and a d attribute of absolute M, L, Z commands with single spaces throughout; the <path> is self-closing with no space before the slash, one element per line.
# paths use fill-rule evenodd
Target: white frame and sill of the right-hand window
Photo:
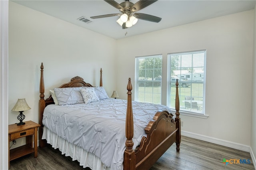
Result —
<path fill-rule="evenodd" d="M 185 107 L 182 107 L 182 102 L 184 102 L 184 95 L 181 95 L 181 88 L 184 88 L 184 87 L 181 87 L 179 86 L 179 99 L 180 99 L 180 114 L 182 115 L 188 115 L 188 116 L 193 116 L 193 117 L 200 117 L 200 118 L 207 118 L 208 115 L 205 114 L 205 85 L 206 85 L 206 50 L 198 50 L 198 51 L 187 51 L 187 52 L 180 52 L 180 53 L 168 53 L 168 65 L 167 65 L 167 106 L 170 107 L 170 109 L 172 109 L 172 111 L 174 111 L 175 113 L 175 107 L 172 107 L 173 106 L 173 103 L 171 103 L 171 101 L 174 101 L 174 99 L 171 99 L 171 98 L 175 98 L 175 96 L 171 95 L 171 56 L 172 55 L 186 55 L 186 54 L 196 54 L 196 53 L 202 53 L 204 52 L 204 75 L 203 75 L 203 97 L 202 97 L 202 103 L 201 104 L 201 109 L 199 111 L 197 110 L 194 110 L 194 109 L 187 109 Z M 193 61 L 192 61 L 193 63 Z M 193 68 L 193 66 L 192 66 Z M 182 66 L 180 68 L 182 70 Z M 180 73 L 180 77 L 181 77 L 181 73 Z M 188 78 L 188 77 L 185 77 L 185 78 Z M 192 85 L 193 82 L 190 81 L 190 84 Z M 189 87 L 188 87 L 189 88 Z M 190 87 L 191 91 L 192 91 L 192 86 Z M 174 90 L 174 88 L 172 88 L 172 90 Z"/>

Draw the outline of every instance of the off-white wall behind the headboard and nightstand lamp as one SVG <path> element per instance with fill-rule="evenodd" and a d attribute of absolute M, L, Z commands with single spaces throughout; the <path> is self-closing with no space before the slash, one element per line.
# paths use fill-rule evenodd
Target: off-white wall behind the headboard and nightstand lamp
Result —
<path fill-rule="evenodd" d="M 9 124 L 18 123 L 11 111 L 18 98 L 26 98 L 30 110 L 24 121 L 38 123 L 40 65 L 44 63 L 45 98 L 49 90 L 67 83 L 74 76 L 99 86 L 110 96 L 115 82 L 116 40 L 68 22 L 9 4 Z M 17 141 L 20 144 L 20 142 Z"/>

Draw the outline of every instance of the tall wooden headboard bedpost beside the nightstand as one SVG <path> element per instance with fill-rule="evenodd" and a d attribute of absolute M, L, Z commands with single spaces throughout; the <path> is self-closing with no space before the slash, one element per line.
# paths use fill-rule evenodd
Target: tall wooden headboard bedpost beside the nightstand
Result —
<path fill-rule="evenodd" d="M 45 100 L 44 100 L 44 65 L 41 63 L 41 76 L 40 76 L 40 99 L 39 99 L 39 124 L 41 127 L 39 128 L 39 147 L 42 148 L 46 145 L 46 142 L 42 140 L 42 134 L 43 134 L 43 113 L 45 108 Z"/>

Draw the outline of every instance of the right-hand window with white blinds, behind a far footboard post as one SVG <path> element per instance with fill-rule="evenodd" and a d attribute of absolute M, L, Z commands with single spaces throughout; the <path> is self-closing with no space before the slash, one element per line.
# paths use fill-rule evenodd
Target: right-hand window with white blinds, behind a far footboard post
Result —
<path fill-rule="evenodd" d="M 206 50 L 168 54 L 167 106 L 175 109 L 176 79 L 180 111 L 204 114 Z"/>

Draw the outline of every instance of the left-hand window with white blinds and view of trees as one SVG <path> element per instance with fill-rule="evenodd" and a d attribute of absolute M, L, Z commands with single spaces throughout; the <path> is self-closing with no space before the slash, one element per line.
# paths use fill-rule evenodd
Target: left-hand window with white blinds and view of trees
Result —
<path fill-rule="evenodd" d="M 135 58 L 135 101 L 161 104 L 162 55 Z"/>

